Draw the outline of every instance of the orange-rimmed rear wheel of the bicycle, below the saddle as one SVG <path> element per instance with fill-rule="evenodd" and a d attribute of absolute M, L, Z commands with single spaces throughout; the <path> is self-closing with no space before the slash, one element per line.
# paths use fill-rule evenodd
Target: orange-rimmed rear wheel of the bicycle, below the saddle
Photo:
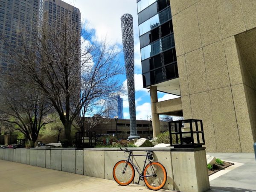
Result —
<path fill-rule="evenodd" d="M 158 162 L 148 163 L 143 174 L 146 186 L 152 190 L 162 189 L 167 180 L 166 169 Z"/>

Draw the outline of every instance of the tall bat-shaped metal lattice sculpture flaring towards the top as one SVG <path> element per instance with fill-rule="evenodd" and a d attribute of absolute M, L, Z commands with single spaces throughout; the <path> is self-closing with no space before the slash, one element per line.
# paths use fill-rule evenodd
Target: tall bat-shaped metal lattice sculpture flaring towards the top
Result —
<path fill-rule="evenodd" d="M 128 102 L 130 111 L 130 137 L 128 139 L 140 138 L 137 134 L 135 91 L 134 91 L 134 38 L 133 22 L 130 14 L 121 17 L 122 43 L 125 56 L 125 70 L 128 89 Z"/>

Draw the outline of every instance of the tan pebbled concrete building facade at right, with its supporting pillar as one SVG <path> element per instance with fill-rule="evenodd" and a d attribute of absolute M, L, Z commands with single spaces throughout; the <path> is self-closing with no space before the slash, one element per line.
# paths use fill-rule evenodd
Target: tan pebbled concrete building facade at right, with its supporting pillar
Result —
<path fill-rule="evenodd" d="M 252 152 L 256 1 L 170 0 L 170 5 L 181 97 L 160 105 L 158 85 L 149 87 L 152 113 L 202 119 L 207 151 Z"/>

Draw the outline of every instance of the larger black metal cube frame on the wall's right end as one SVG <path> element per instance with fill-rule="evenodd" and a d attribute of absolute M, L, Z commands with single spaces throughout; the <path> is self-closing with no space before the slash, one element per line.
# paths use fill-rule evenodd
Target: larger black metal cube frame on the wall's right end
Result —
<path fill-rule="evenodd" d="M 170 121 L 169 133 L 170 143 L 174 148 L 197 148 L 205 145 L 202 120 Z"/>

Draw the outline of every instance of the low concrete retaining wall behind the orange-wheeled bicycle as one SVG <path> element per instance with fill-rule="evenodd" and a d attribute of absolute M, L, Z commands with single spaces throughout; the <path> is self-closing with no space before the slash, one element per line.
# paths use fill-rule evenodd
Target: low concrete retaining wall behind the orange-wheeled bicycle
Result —
<path fill-rule="evenodd" d="M 132 148 L 133 154 L 145 154 L 143 150 L 154 150 L 154 161 L 163 164 L 167 172 L 164 189 L 203 192 L 209 189 L 209 177 L 204 148 Z M 135 151 L 136 150 L 136 151 Z M 113 180 L 113 166 L 119 160 L 125 160 L 127 154 L 117 148 L 93 148 L 75 150 L 75 148 L 45 149 L 9 149 L 0 148 L 0 159 L 24 163 L 33 166 L 55 169 L 91 177 Z M 133 157 L 143 169 L 145 157 Z M 136 171 L 135 171 L 136 172 Z M 135 174 L 134 182 L 139 175 Z M 140 184 L 144 185 L 141 181 Z"/>

